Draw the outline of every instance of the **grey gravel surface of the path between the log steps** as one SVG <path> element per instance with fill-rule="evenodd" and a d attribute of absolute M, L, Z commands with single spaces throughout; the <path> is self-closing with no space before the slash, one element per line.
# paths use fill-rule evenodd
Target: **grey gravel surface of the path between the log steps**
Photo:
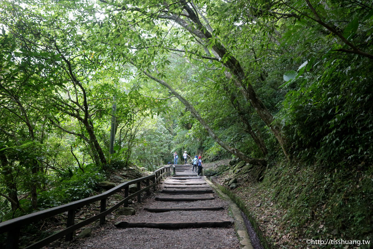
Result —
<path fill-rule="evenodd" d="M 178 175 L 195 176 L 191 168 L 186 171 L 176 172 Z M 180 183 L 178 185 L 169 183 Z M 228 215 L 228 203 L 219 199 L 215 193 L 204 194 L 167 194 L 163 189 L 169 187 L 203 187 L 211 189 L 206 183 L 203 185 L 184 185 L 184 183 L 206 183 L 204 178 L 178 180 L 175 177 L 167 177 L 163 184 L 157 187 L 157 192 L 145 196 L 142 203 L 135 203 L 133 207 L 136 215 L 119 216 L 108 219 L 103 226 L 94 227 L 92 237 L 77 239 L 72 242 L 70 249 L 239 249 L 239 241 L 235 235 L 233 226 L 224 228 L 183 228 L 183 229 L 158 229 L 158 228 L 116 228 L 116 221 L 222 221 L 233 219 Z M 184 190 L 182 189 L 182 190 Z M 172 189 L 178 190 L 178 189 Z M 179 189 L 180 190 L 180 189 Z M 209 197 L 213 200 L 198 200 L 192 202 L 156 201 L 155 197 Z M 169 211 L 154 213 L 145 211 L 144 208 L 168 208 L 168 207 L 199 207 L 221 206 L 217 211 Z"/>

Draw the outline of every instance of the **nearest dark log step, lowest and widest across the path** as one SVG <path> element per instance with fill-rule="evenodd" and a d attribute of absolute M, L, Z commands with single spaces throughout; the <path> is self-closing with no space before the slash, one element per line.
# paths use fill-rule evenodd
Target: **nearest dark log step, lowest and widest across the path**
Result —
<path fill-rule="evenodd" d="M 232 225 L 232 221 L 118 221 L 115 226 L 118 228 L 126 227 L 146 227 L 146 228 L 163 228 L 163 229 L 177 229 L 190 227 L 228 227 Z"/>

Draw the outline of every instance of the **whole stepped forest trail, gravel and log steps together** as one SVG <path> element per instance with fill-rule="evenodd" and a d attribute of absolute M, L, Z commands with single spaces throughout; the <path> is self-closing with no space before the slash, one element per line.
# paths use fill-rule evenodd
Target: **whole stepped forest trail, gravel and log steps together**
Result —
<path fill-rule="evenodd" d="M 69 248 L 241 248 L 228 201 L 220 199 L 204 177 L 191 172 L 190 165 L 175 166 L 176 175 L 135 206 L 136 215 L 117 216 L 94 230 L 93 237 L 76 240 Z"/>

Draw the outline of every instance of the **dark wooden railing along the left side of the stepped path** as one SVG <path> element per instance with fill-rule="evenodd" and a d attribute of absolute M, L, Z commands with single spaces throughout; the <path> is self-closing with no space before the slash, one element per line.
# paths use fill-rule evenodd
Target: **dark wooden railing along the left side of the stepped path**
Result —
<path fill-rule="evenodd" d="M 6 241 L 6 248 L 7 249 L 17 249 L 18 248 L 18 240 L 19 240 L 19 234 L 21 232 L 21 228 L 24 225 L 29 225 L 36 221 L 41 221 L 46 218 L 53 217 L 54 215 L 62 214 L 63 212 L 68 212 L 67 222 L 66 222 L 66 228 L 62 231 L 59 231 L 49 237 L 46 237 L 45 239 L 39 240 L 38 242 L 27 246 L 25 249 L 38 249 L 43 246 L 48 245 L 51 242 L 54 242 L 57 239 L 62 238 L 65 236 L 65 241 L 71 241 L 73 237 L 73 233 L 75 230 L 84 227 L 85 225 L 88 225 L 98 219 L 100 219 L 100 224 L 103 224 L 105 222 L 106 215 L 113 212 L 115 209 L 119 208 L 120 206 L 128 206 L 128 200 L 133 199 L 137 197 L 137 201 L 141 202 L 141 193 L 146 192 L 147 194 L 150 194 L 150 189 L 153 188 L 153 190 L 156 190 L 156 184 L 157 182 L 162 179 L 165 175 L 170 175 L 170 166 L 165 166 L 162 168 L 157 169 L 153 172 L 153 174 L 137 178 L 132 181 L 127 181 L 125 183 L 119 184 L 118 186 L 107 190 L 106 192 L 102 194 L 98 194 L 92 197 L 88 197 L 82 200 L 77 200 L 75 202 L 70 202 L 65 205 L 57 206 L 54 208 L 45 209 L 42 211 L 38 211 L 32 214 L 23 215 L 21 217 L 4 221 L 0 223 L 0 234 L 8 233 L 7 241 Z M 150 184 L 150 180 L 152 181 L 152 184 Z M 141 182 L 145 183 L 145 187 L 141 189 Z M 131 184 L 137 184 L 137 192 L 133 194 L 129 194 L 129 186 Z M 106 200 L 109 196 L 124 190 L 124 199 L 120 200 L 118 203 L 116 203 L 114 206 L 106 209 Z M 75 212 L 77 209 L 81 208 L 82 206 L 94 203 L 100 201 L 100 213 L 97 215 L 94 215 L 93 217 L 87 218 L 84 221 L 81 221 L 79 223 L 75 224 Z M 1 246 L 1 245 L 0 245 Z"/>

